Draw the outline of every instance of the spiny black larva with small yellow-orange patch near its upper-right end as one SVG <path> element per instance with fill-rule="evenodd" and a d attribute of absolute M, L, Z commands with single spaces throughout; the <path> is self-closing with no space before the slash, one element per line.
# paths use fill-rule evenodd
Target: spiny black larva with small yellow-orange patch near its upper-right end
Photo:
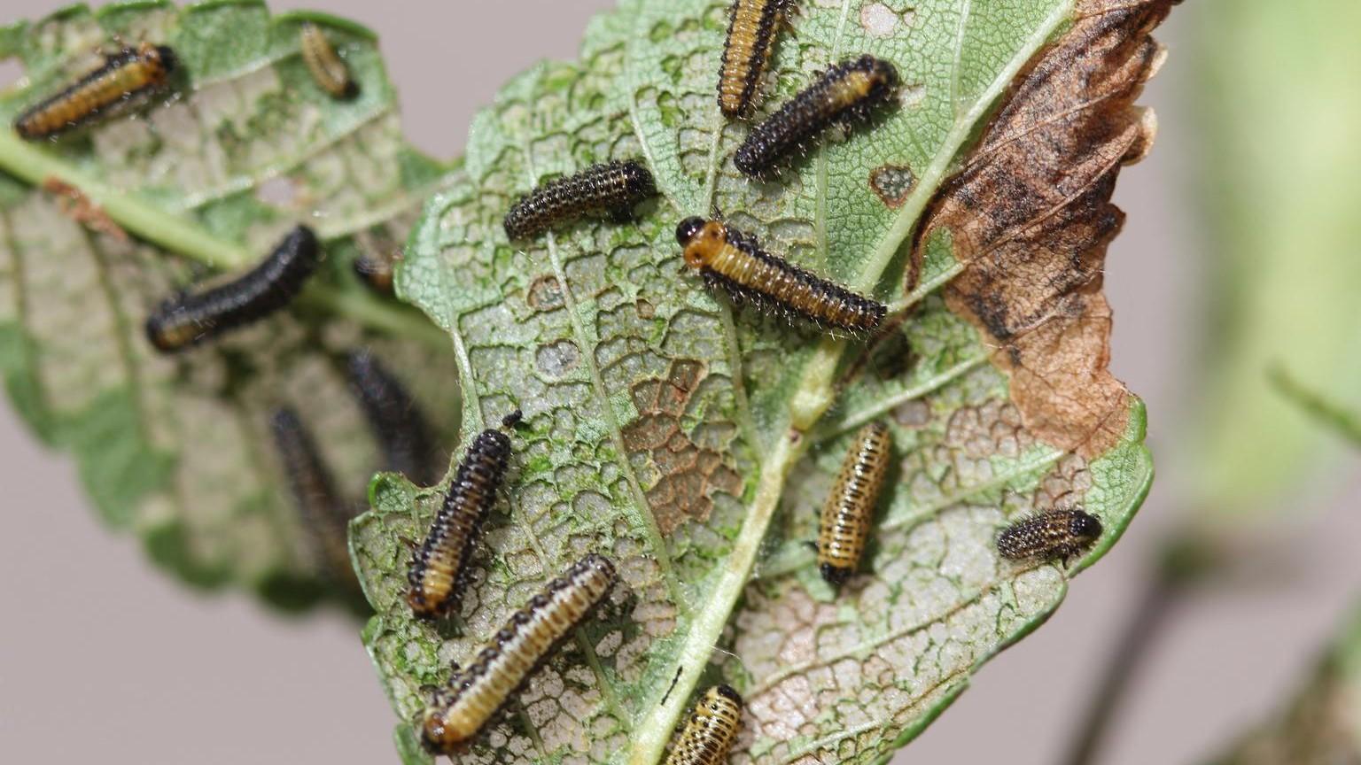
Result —
<path fill-rule="evenodd" d="M 862 56 L 829 68 L 778 112 L 751 128 L 732 163 L 762 177 L 796 148 L 806 147 L 836 123 L 860 121 L 886 103 L 898 87 L 893 64 Z"/>

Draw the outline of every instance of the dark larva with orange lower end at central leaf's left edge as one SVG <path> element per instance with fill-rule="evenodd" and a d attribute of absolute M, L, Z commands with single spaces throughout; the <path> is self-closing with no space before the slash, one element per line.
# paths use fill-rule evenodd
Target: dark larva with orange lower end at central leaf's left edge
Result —
<path fill-rule="evenodd" d="M 516 410 L 501 425 L 510 429 L 519 422 Z M 504 430 L 489 427 L 468 446 L 430 532 L 411 555 L 407 603 L 416 617 L 442 618 L 459 604 L 468 561 L 509 461 L 510 437 Z"/>

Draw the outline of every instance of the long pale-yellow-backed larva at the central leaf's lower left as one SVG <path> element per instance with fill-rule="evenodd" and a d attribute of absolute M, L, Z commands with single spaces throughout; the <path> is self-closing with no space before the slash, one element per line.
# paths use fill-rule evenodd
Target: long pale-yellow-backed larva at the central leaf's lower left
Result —
<path fill-rule="evenodd" d="M 604 600 L 618 574 L 604 555 L 589 554 L 548 583 L 497 632 L 421 720 L 421 740 L 437 754 L 463 751 L 585 618 Z"/>

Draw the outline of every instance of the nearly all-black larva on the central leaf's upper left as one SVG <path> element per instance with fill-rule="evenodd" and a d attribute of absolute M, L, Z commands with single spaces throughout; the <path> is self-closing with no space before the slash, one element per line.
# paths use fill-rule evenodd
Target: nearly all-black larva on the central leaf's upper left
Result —
<path fill-rule="evenodd" d="M 641 162 L 629 159 L 592 165 L 520 197 L 506 214 L 506 235 L 528 240 L 587 214 L 626 216 L 634 204 L 656 193 L 652 173 Z"/>

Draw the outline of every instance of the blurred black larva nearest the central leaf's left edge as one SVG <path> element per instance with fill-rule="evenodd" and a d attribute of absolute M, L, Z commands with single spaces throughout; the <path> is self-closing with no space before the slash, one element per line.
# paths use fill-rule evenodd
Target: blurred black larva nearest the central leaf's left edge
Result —
<path fill-rule="evenodd" d="M 444 470 L 438 449 L 411 393 L 369 351 L 352 351 L 346 366 L 350 389 L 382 451 L 384 470 L 400 472 L 418 486 L 438 482 Z"/>

